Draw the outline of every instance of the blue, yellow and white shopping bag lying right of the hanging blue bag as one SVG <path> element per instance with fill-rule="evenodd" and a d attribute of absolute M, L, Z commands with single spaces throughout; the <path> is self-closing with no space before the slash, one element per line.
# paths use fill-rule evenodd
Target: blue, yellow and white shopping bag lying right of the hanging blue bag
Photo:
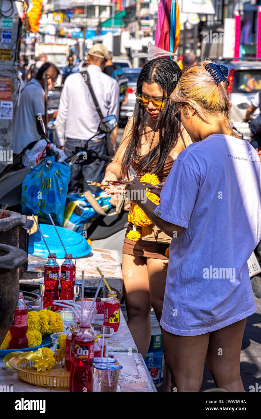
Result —
<path fill-rule="evenodd" d="M 92 195 L 100 204 L 104 212 L 112 207 L 110 204 L 111 197 L 106 195 L 103 191 L 100 191 L 100 194 Z M 97 217 L 100 217 L 100 214 L 92 208 L 91 204 L 89 204 L 84 197 L 84 194 L 68 195 L 64 210 L 63 227 L 81 233 L 82 231 L 86 231 L 90 227 L 92 221 L 96 220 Z"/>

